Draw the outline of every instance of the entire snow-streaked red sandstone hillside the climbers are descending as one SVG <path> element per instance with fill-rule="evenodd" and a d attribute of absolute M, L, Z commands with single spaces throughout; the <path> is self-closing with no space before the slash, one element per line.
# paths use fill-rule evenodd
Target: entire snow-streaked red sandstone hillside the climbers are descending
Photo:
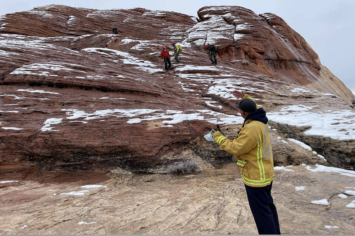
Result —
<path fill-rule="evenodd" d="M 61 5 L 3 16 L 0 163 L 144 172 L 188 160 L 202 169 L 220 165 L 233 158 L 202 136 L 219 123 L 234 137 L 243 119 L 232 92 L 243 90 L 268 112 L 312 110 L 328 122 L 347 110 L 334 125 L 339 137 L 306 135 L 308 122 L 269 124 L 278 129 L 271 131 L 275 163 L 324 164 L 281 142 L 295 138 L 331 165 L 354 168 L 354 97 L 299 34 L 271 13 L 242 7 L 203 7 L 198 16 Z M 114 27 L 118 35 L 110 34 Z M 173 41 L 183 47 L 182 64 L 166 72 L 160 51 L 171 51 Z M 209 64 L 206 42 L 220 47 L 217 66 Z M 283 111 L 290 105 L 296 108 Z"/>

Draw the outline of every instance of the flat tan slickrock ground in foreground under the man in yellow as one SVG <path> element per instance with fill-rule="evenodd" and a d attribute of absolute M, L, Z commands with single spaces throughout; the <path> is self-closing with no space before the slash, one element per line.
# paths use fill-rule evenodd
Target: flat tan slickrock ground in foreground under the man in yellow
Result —
<path fill-rule="evenodd" d="M 281 233 L 353 234 L 354 177 L 287 168 L 272 190 Z M 18 169 L 0 167 L 2 179 L 18 181 L 0 184 L 0 234 L 257 234 L 234 164 L 180 175 Z"/>

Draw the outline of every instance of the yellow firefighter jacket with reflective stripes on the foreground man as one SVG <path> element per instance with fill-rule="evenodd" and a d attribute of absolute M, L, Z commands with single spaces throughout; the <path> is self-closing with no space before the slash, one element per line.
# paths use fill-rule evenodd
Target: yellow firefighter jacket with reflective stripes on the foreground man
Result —
<path fill-rule="evenodd" d="M 274 162 L 264 109 L 257 109 L 245 119 L 233 141 L 225 138 L 219 131 L 214 132 L 212 137 L 223 150 L 234 154 L 246 185 L 263 187 L 272 182 Z"/>

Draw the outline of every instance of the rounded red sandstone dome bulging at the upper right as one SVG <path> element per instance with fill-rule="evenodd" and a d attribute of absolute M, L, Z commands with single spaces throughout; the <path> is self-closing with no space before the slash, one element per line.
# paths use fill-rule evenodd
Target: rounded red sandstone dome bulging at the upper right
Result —
<path fill-rule="evenodd" d="M 246 8 L 228 6 L 202 7 L 198 16 L 203 22 L 195 28 L 202 26 L 204 40 L 219 45 L 223 59 L 247 59 L 257 71 L 277 79 L 300 85 L 314 82 L 321 90 L 329 87 L 319 80 L 318 55 L 282 18 L 272 13 L 257 16 Z M 219 33 L 221 28 L 224 34 Z M 351 96 L 343 97 L 348 100 Z"/>

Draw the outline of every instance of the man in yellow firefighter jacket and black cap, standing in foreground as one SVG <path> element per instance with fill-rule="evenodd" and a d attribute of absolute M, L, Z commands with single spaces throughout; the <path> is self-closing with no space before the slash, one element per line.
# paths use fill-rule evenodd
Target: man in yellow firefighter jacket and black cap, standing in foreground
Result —
<path fill-rule="evenodd" d="M 212 137 L 237 160 L 259 234 L 280 234 L 277 210 L 271 196 L 274 163 L 266 112 L 258 108 L 249 95 L 235 94 L 244 95 L 236 107 L 245 119 L 236 138 L 229 140 L 214 129 Z"/>

